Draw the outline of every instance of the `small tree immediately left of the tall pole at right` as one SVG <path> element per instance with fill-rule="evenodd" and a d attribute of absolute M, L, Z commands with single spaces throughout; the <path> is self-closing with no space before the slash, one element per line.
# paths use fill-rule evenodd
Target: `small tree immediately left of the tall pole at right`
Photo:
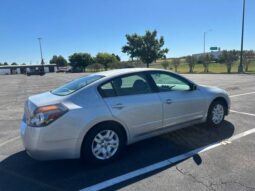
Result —
<path fill-rule="evenodd" d="M 224 63 L 227 67 L 227 72 L 231 73 L 232 66 L 236 60 L 238 60 L 239 54 L 236 50 L 223 50 L 219 59 L 220 63 Z"/>

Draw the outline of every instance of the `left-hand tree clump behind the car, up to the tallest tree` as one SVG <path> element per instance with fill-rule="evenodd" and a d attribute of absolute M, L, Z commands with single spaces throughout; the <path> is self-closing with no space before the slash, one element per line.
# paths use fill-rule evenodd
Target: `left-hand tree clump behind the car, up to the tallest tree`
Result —
<path fill-rule="evenodd" d="M 98 71 L 123 67 L 135 67 L 141 63 L 147 67 L 157 59 L 165 58 L 168 52 L 164 46 L 164 38 L 157 39 L 157 31 L 146 31 L 144 35 L 132 34 L 126 35 L 127 43 L 122 47 L 122 52 L 127 53 L 131 61 L 121 62 L 118 55 L 100 52 L 95 57 L 89 53 L 74 53 L 68 57 L 68 61 L 61 55 L 54 55 L 50 64 L 56 64 L 57 67 L 70 65 L 74 71 L 86 71 L 90 69 Z"/>

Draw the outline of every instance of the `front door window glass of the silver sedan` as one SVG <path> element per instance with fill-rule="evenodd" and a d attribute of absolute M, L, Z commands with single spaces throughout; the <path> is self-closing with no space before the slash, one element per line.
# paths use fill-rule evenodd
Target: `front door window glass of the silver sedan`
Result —
<path fill-rule="evenodd" d="M 190 90 L 190 85 L 176 76 L 155 72 L 151 74 L 151 77 L 160 92 Z"/>

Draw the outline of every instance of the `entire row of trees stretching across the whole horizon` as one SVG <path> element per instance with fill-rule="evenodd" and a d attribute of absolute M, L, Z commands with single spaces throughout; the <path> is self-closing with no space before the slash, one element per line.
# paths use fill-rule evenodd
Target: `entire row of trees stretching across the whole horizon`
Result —
<path fill-rule="evenodd" d="M 208 73 L 211 63 L 220 63 L 226 65 L 226 71 L 231 73 L 232 66 L 240 59 L 240 51 L 237 50 L 223 50 L 219 57 L 215 58 L 212 54 L 190 55 L 182 58 L 166 59 L 168 49 L 164 48 L 163 36 L 157 37 L 157 31 L 146 31 L 144 35 L 126 34 L 126 44 L 122 47 L 122 52 L 130 57 L 130 61 L 121 61 L 120 57 L 116 54 L 99 52 L 96 56 L 92 56 L 86 52 L 73 53 L 65 59 L 63 56 L 54 55 L 50 60 L 50 64 L 56 64 L 57 67 L 71 66 L 72 70 L 85 72 L 87 69 L 90 71 L 99 71 L 101 69 L 108 70 L 114 68 L 128 68 L 141 66 L 146 64 L 147 67 L 156 60 L 161 60 L 163 68 L 174 69 L 178 72 L 179 66 L 187 64 L 189 72 L 193 73 L 197 64 L 202 64 L 204 72 Z M 253 50 L 244 51 L 244 67 L 245 71 L 249 71 L 249 65 L 255 60 L 255 52 Z M 0 65 L 8 65 L 7 62 L 0 63 Z M 10 65 L 17 65 L 13 62 Z M 26 65 L 23 63 L 23 65 Z"/>

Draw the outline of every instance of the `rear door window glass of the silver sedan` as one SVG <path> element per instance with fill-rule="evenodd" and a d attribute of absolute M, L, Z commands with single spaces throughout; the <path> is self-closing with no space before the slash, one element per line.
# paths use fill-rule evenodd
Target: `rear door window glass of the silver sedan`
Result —
<path fill-rule="evenodd" d="M 103 97 L 137 95 L 151 92 L 148 81 L 143 74 L 115 78 L 100 87 L 100 93 Z"/>

